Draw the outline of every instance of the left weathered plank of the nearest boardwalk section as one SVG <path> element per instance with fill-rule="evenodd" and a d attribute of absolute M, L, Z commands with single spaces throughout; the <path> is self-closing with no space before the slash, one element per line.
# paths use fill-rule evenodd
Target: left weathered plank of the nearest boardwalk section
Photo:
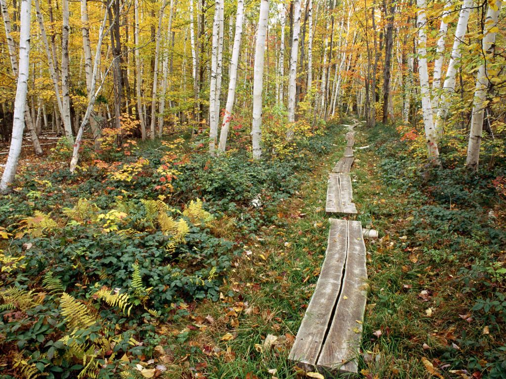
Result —
<path fill-rule="evenodd" d="M 334 218 L 330 218 L 329 222 L 327 252 L 321 274 L 288 356 L 288 359 L 298 362 L 299 366 L 308 371 L 316 367 L 332 311 L 338 300 L 346 261 L 348 223 Z"/>

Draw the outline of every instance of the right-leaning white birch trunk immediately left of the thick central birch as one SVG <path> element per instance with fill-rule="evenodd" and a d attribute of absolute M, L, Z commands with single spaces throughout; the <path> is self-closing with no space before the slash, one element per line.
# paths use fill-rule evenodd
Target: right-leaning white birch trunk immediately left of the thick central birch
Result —
<path fill-rule="evenodd" d="M 222 152 L 227 147 L 227 136 L 230 128 L 230 119 L 235 101 L 235 88 L 237 84 L 237 64 L 239 62 L 239 52 L 241 48 L 242 20 L 244 17 L 244 1 L 237 0 L 237 15 L 235 19 L 234 46 L 232 48 L 232 60 L 230 61 L 230 80 L 228 84 L 227 105 L 220 131 L 220 144 L 218 149 Z"/>

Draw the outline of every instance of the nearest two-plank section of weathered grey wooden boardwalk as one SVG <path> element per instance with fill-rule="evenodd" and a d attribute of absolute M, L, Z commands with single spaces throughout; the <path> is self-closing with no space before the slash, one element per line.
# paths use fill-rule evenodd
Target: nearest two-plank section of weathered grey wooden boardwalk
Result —
<path fill-rule="evenodd" d="M 357 372 L 367 278 L 362 226 L 329 222 L 321 274 L 288 359 L 306 370 Z"/>

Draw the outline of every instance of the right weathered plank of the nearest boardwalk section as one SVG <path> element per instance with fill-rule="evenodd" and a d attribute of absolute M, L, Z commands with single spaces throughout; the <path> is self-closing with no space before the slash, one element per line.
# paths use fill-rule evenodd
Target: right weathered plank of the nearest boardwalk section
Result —
<path fill-rule="evenodd" d="M 348 248 L 342 291 L 318 358 L 318 369 L 339 370 L 343 373 L 358 371 L 357 357 L 367 299 L 366 280 L 362 226 L 359 221 L 348 221 Z"/>

